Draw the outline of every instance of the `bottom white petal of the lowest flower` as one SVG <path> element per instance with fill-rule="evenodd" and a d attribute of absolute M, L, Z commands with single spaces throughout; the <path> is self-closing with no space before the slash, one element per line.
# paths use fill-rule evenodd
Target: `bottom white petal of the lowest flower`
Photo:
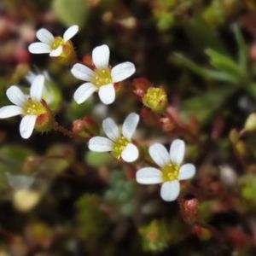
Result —
<path fill-rule="evenodd" d="M 180 185 L 177 180 L 163 183 L 160 189 L 160 196 L 164 201 L 174 201 L 179 195 Z"/>

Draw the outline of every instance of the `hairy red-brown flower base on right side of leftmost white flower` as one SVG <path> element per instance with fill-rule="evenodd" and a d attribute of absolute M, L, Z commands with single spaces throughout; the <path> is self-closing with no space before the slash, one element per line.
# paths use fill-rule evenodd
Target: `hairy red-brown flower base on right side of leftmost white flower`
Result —
<path fill-rule="evenodd" d="M 41 132 L 50 131 L 54 125 L 54 115 L 44 100 L 41 100 L 41 104 L 44 108 L 44 113 L 38 115 L 35 129 Z"/>

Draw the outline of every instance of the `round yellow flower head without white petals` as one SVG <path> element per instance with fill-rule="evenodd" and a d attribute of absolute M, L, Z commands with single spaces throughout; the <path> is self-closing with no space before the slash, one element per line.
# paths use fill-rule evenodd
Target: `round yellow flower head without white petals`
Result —
<path fill-rule="evenodd" d="M 156 87 L 148 88 L 147 93 L 143 96 L 143 104 L 154 113 L 162 113 L 168 104 L 166 90 Z"/>

